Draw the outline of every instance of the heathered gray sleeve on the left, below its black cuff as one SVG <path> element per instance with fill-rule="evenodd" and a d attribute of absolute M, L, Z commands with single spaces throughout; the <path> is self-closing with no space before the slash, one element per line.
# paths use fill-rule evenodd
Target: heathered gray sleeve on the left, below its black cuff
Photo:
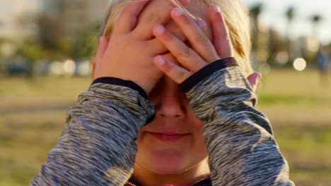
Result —
<path fill-rule="evenodd" d="M 154 112 L 134 89 L 92 85 L 67 112 L 64 132 L 30 185 L 124 185 L 133 173 L 138 130 Z"/>

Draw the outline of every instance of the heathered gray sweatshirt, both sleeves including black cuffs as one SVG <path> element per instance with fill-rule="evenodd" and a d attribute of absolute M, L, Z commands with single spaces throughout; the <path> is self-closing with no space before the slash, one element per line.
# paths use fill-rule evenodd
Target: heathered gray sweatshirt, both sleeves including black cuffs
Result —
<path fill-rule="evenodd" d="M 294 185 L 269 120 L 254 108 L 255 94 L 233 58 L 209 64 L 180 87 L 204 122 L 212 185 Z M 95 80 L 68 110 L 66 128 L 30 185 L 125 185 L 138 130 L 153 116 L 134 82 Z"/>

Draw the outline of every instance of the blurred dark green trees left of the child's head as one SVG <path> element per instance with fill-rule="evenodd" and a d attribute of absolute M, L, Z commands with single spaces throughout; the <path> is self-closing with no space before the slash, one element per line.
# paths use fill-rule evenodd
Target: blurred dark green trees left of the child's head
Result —
<path fill-rule="evenodd" d="M 90 58 L 98 42 L 100 25 L 81 30 L 75 38 L 64 37 L 63 24 L 57 16 L 40 13 L 35 17 L 37 35 L 18 46 L 17 56 L 25 58 L 31 69 L 37 61 L 63 61 L 66 58 Z"/>

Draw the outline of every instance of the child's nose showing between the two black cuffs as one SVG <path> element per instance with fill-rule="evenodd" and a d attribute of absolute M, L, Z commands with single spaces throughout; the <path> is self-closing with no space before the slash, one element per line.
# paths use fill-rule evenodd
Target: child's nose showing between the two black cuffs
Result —
<path fill-rule="evenodd" d="M 178 84 L 163 76 L 149 94 L 149 101 L 156 110 L 156 117 L 185 118 L 188 101 Z"/>

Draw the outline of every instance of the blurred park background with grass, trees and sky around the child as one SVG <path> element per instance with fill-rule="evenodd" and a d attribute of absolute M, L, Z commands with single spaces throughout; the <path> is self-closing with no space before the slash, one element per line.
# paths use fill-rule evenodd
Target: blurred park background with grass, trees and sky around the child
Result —
<path fill-rule="evenodd" d="M 108 0 L 0 1 L 0 186 L 28 185 L 91 83 Z M 331 1 L 243 0 L 257 109 L 272 122 L 296 185 L 331 185 Z"/>

